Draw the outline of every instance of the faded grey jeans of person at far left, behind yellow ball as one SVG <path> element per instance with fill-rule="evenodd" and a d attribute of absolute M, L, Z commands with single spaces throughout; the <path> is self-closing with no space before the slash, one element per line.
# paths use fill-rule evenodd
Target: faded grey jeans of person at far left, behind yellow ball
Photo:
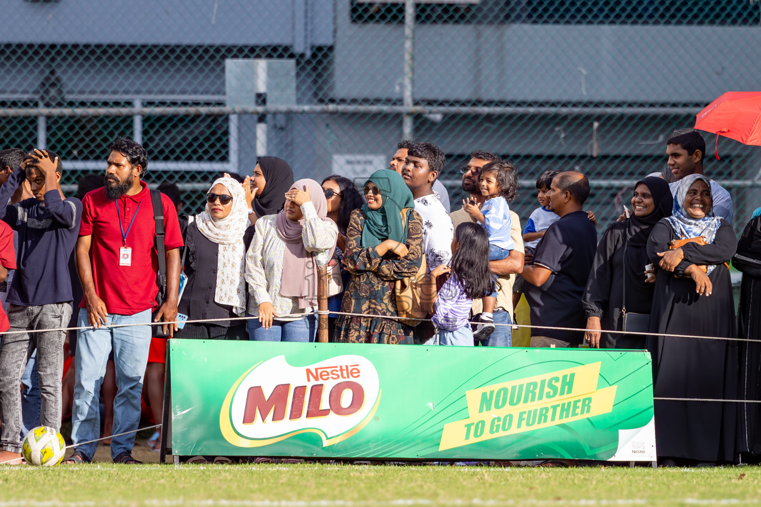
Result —
<path fill-rule="evenodd" d="M 71 303 L 16 306 L 8 309 L 10 331 L 65 328 L 72 316 Z M 4 451 L 21 452 L 21 375 L 37 349 L 40 378 L 40 422 L 61 428 L 61 378 L 66 331 L 4 334 L 0 344 L 0 443 Z"/>

